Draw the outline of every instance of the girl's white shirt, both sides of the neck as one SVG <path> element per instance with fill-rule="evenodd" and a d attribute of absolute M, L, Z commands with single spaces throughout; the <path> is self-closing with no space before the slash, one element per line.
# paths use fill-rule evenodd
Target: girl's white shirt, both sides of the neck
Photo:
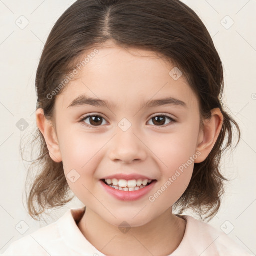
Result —
<path fill-rule="evenodd" d="M 57 221 L 39 228 L 9 245 L 1 256 L 104 256 L 82 234 L 77 226 L 84 207 L 69 209 Z M 224 232 L 191 216 L 186 220 L 184 237 L 168 256 L 248 256 Z"/>

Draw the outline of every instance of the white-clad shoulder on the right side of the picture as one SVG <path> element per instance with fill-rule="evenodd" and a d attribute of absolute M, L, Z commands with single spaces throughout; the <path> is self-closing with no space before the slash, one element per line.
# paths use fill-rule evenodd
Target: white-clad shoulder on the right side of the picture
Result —
<path fill-rule="evenodd" d="M 250 254 L 233 241 L 222 230 L 191 216 L 183 216 L 186 220 L 182 248 L 191 248 L 193 255 L 249 256 Z M 175 254 L 173 254 L 175 255 Z"/>

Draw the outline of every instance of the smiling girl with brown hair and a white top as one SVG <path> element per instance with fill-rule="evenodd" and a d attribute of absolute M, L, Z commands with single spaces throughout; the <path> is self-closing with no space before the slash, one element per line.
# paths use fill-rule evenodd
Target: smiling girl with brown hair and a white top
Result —
<path fill-rule="evenodd" d="M 217 213 L 220 158 L 239 133 L 219 55 L 188 6 L 77 0 L 48 36 L 36 91 L 41 171 L 28 212 L 64 205 L 69 189 L 85 207 L 2 255 L 249 255 L 181 215 Z"/>

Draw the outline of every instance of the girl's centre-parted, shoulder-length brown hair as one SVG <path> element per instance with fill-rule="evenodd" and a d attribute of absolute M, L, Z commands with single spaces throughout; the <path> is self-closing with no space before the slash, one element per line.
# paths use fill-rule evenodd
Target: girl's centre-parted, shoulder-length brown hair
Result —
<path fill-rule="evenodd" d="M 57 20 L 45 43 L 36 72 L 37 108 L 54 123 L 52 95 L 73 70 L 84 52 L 111 39 L 122 47 L 137 47 L 159 53 L 184 74 L 199 99 L 200 114 L 211 116 L 220 108 L 223 125 L 217 141 L 201 163 L 195 163 L 191 181 L 174 204 L 179 214 L 191 208 L 205 218 L 220 207 L 225 179 L 219 170 L 224 150 L 231 148 L 233 128 L 238 124 L 223 109 L 223 67 L 213 41 L 197 14 L 179 0 L 77 0 Z M 66 85 L 67 86 L 67 85 Z M 64 88 L 66 87 L 64 86 Z M 61 93 L 63 88 L 58 92 Z M 39 157 L 32 162 L 36 177 L 27 198 L 34 218 L 46 208 L 62 206 L 68 197 L 62 162 L 54 162 L 40 130 L 32 141 L 40 142 Z M 224 139 L 227 140 L 224 143 Z M 237 144 L 236 144 L 237 145 Z M 39 206 L 36 209 L 35 205 Z"/>

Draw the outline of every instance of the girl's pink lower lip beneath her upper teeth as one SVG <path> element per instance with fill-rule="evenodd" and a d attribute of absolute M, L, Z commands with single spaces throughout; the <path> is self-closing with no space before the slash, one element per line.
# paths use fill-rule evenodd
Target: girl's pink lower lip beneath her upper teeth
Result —
<path fill-rule="evenodd" d="M 115 198 L 122 201 L 135 201 L 141 198 L 142 196 L 146 195 L 147 193 L 149 193 L 149 191 L 154 187 L 156 180 L 153 180 L 149 185 L 143 188 L 140 188 L 136 191 L 118 190 L 111 186 L 106 185 L 102 180 L 100 180 L 100 183 L 102 184 L 104 189 Z"/>

